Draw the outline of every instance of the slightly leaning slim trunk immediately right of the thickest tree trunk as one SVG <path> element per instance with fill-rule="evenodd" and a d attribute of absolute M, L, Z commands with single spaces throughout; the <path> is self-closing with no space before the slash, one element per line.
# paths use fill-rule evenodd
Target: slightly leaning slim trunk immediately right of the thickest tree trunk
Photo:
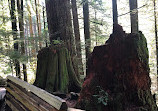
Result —
<path fill-rule="evenodd" d="M 79 73 L 80 75 L 83 75 L 84 71 L 83 71 L 83 63 L 82 63 L 81 40 L 80 40 L 80 30 L 78 23 L 76 0 L 71 0 L 71 3 L 72 3 L 73 26 L 75 33 L 75 44 L 76 44 L 77 59 L 78 59 L 77 62 L 79 67 Z"/>

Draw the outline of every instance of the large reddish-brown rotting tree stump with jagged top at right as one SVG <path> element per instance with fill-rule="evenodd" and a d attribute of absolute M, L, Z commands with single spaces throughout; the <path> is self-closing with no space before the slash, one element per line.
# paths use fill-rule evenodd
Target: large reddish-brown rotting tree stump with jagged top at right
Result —
<path fill-rule="evenodd" d="M 142 32 L 115 26 L 88 60 L 78 106 L 90 111 L 157 111 L 151 94 L 147 43 Z"/>

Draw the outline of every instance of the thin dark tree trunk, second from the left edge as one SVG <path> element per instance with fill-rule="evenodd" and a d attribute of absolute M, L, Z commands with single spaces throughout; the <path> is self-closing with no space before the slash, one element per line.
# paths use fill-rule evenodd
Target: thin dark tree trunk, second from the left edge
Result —
<path fill-rule="evenodd" d="M 24 39 L 24 19 L 23 19 L 23 0 L 17 0 L 17 8 L 18 8 L 18 19 L 19 19 L 19 29 L 20 29 L 20 38 Z M 24 40 L 21 42 L 21 54 L 25 55 L 25 47 Z M 24 81 L 27 81 L 27 69 L 26 64 L 23 65 L 23 75 Z"/>

